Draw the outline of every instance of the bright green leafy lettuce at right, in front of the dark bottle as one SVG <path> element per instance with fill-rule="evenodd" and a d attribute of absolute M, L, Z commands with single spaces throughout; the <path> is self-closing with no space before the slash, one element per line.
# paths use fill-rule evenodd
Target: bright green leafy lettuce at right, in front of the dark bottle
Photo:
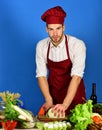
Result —
<path fill-rule="evenodd" d="M 75 125 L 75 130 L 85 130 L 88 124 L 93 123 L 92 107 L 92 100 L 88 100 L 84 104 L 76 105 L 76 107 L 71 110 L 69 120 Z"/>

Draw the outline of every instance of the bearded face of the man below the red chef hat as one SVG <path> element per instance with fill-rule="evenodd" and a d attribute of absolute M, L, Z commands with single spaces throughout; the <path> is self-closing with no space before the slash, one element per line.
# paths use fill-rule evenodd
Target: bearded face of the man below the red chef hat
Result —
<path fill-rule="evenodd" d="M 51 38 L 52 43 L 57 46 L 64 36 L 64 25 L 62 24 L 48 24 L 46 30 Z"/>

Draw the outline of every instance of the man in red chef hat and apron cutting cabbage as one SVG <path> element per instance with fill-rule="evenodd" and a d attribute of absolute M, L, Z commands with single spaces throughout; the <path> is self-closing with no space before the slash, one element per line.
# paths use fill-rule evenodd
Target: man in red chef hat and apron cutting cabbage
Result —
<path fill-rule="evenodd" d="M 53 107 L 54 114 L 69 114 L 70 110 L 86 100 L 83 74 L 86 47 L 83 41 L 65 35 L 66 12 L 60 6 L 44 12 L 49 35 L 38 42 L 36 48 L 36 77 L 45 98 L 47 111 Z"/>

